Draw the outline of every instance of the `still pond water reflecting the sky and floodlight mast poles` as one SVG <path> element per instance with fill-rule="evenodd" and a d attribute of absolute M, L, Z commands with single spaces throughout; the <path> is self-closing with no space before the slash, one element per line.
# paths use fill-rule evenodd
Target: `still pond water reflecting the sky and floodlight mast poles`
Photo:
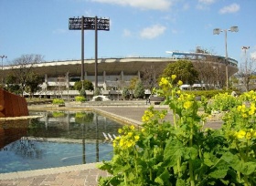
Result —
<path fill-rule="evenodd" d="M 94 112 L 30 112 L 39 119 L 0 122 L 0 173 L 29 171 L 112 159 L 122 128 Z"/>

